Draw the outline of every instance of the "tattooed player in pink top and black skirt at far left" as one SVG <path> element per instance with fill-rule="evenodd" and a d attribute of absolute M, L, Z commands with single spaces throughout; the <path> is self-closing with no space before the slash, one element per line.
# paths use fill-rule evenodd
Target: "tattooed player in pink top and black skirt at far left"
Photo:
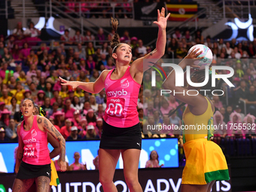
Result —
<path fill-rule="evenodd" d="M 17 126 L 19 147 L 13 190 L 23 191 L 36 183 L 38 191 L 49 191 L 50 186 L 50 152 L 47 147 L 47 133 L 59 141 L 60 157 L 59 166 L 66 171 L 66 142 L 55 126 L 45 117 L 33 115 L 35 104 L 32 99 L 24 99 L 20 110 L 24 120 Z"/>

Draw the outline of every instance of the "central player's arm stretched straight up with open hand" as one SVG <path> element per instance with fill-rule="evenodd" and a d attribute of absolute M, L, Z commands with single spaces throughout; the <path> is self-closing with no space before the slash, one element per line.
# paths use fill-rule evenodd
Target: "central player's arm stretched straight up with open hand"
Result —
<path fill-rule="evenodd" d="M 157 37 L 156 48 L 151 53 L 148 53 L 146 56 L 136 59 L 131 66 L 130 72 L 135 72 L 135 74 L 143 73 L 149 69 L 148 66 L 154 65 L 153 63 L 147 63 L 146 66 L 145 65 L 143 66 L 143 59 L 152 59 L 151 62 L 157 62 L 157 60 L 163 56 L 166 49 L 166 25 L 167 25 L 167 20 L 169 18 L 169 15 L 170 14 L 164 17 L 165 8 L 162 8 L 161 13 L 159 10 L 157 10 L 157 21 L 154 21 L 154 23 L 157 24 L 158 26 L 158 37 Z"/>

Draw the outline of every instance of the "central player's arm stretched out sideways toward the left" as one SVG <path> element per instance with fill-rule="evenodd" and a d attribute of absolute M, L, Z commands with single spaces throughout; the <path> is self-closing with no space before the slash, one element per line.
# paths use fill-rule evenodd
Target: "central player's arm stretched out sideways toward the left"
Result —
<path fill-rule="evenodd" d="M 97 78 L 95 82 L 66 81 L 65 79 L 62 79 L 60 77 L 59 77 L 59 79 L 61 81 L 61 85 L 72 86 L 73 90 L 77 87 L 80 87 L 82 90 L 85 90 L 89 93 L 95 94 L 95 93 L 99 93 L 101 90 L 103 90 L 104 81 L 108 75 L 108 72 L 110 72 L 110 70 L 104 70 L 99 75 L 99 78 Z"/>

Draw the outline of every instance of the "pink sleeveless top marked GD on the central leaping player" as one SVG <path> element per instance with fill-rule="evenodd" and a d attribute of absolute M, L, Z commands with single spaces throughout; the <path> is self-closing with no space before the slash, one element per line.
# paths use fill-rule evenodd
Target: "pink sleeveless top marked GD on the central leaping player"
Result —
<path fill-rule="evenodd" d="M 117 80 L 110 78 L 113 70 L 108 72 L 104 82 L 107 105 L 103 118 L 111 126 L 120 128 L 134 126 L 139 123 L 136 106 L 141 85 L 130 75 L 130 66 L 123 77 Z"/>

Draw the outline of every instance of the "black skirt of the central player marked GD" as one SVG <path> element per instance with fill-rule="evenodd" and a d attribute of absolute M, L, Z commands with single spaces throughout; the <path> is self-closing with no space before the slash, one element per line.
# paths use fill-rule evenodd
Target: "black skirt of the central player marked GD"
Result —
<path fill-rule="evenodd" d="M 104 149 L 142 149 L 142 133 L 140 124 L 120 128 L 111 126 L 103 120 L 102 138 L 99 148 Z"/>

